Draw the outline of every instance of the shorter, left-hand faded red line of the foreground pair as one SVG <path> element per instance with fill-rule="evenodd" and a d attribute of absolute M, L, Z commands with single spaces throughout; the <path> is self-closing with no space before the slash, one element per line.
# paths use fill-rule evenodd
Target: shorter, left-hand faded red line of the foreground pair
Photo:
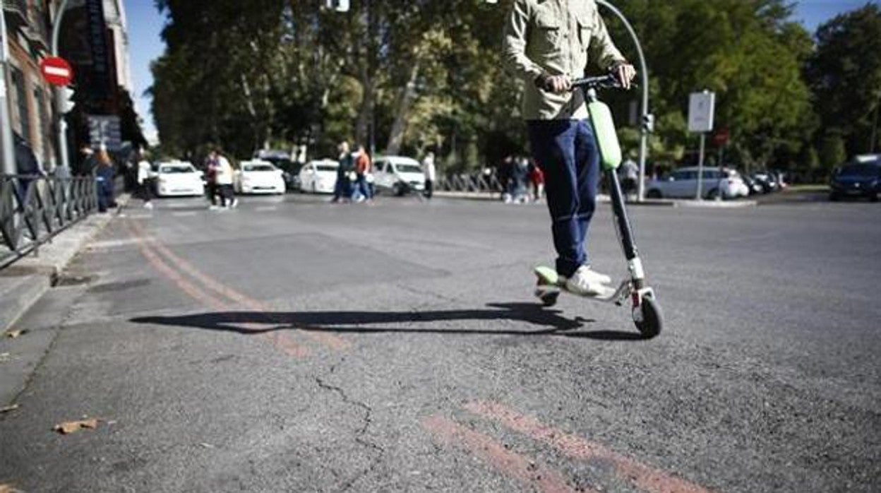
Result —
<path fill-rule="evenodd" d="M 532 466 L 528 459 L 507 450 L 502 444 L 482 433 L 465 428 L 443 416 L 434 415 L 422 422 L 422 426 L 440 442 L 463 448 L 472 455 L 492 464 L 503 474 L 546 493 L 574 492 L 559 472 L 543 466 Z"/>

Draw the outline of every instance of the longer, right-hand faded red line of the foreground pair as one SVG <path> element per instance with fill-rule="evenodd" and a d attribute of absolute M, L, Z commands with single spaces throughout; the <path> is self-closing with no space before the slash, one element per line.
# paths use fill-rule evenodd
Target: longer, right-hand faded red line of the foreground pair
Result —
<path fill-rule="evenodd" d="M 511 430 L 518 431 L 534 440 L 551 444 L 560 452 L 575 459 L 604 459 L 611 461 L 618 474 L 628 478 L 637 487 L 650 493 L 708 493 L 696 484 L 648 467 L 618 452 L 611 451 L 596 442 L 567 434 L 538 422 L 536 418 L 521 415 L 516 411 L 492 402 L 471 402 L 465 409 L 475 415 L 484 416 L 500 422 Z"/>

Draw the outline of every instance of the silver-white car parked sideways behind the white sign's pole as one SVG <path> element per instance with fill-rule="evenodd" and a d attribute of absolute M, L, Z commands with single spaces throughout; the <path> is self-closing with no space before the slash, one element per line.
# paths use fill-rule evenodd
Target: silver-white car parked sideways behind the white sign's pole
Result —
<path fill-rule="evenodd" d="M 698 194 L 698 168 L 679 168 L 666 178 L 648 182 L 646 190 L 648 198 L 695 198 Z M 722 198 L 750 194 L 737 171 L 728 169 L 723 175 L 719 168 L 704 168 L 701 191 L 704 198 L 716 198 L 720 192 Z"/>

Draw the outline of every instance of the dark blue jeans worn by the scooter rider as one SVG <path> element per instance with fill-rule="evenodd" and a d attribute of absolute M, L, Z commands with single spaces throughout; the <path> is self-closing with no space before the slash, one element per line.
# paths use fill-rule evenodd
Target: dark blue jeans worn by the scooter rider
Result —
<path fill-rule="evenodd" d="M 544 171 L 557 272 L 569 277 L 588 264 L 584 244 L 596 209 L 599 152 L 587 120 L 530 120 L 532 155 Z"/>

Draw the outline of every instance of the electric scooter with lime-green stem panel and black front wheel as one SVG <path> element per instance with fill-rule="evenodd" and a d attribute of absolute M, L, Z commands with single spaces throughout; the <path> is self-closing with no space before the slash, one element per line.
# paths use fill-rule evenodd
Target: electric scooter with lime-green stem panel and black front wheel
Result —
<path fill-rule="evenodd" d="M 609 107 L 599 101 L 596 96 L 597 89 L 619 88 L 620 84 L 614 76 L 608 75 L 575 79 L 572 86 L 574 90 L 583 91 L 584 99 L 588 102 L 590 123 L 593 124 L 596 144 L 600 153 L 600 166 L 603 168 L 603 176 L 611 196 L 615 231 L 618 233 L 618 241 L 624 250 L 627 271 L 630 273 L 630 279 L 622 280 L 614 292 L 610 288 L 608 293 L 602 295 L 582 297 L 596 302 L 615 303 L 618 306 L 626 303 L 629 298 L 633 323 L 644 338 L 651 339 L 661 333 L 663 314 L 655 299 L 655 291 L 648 287 L 642 261 L 636 250 L 636 244 L 633 243 L 633 229 L 630 226 L 630 220 L 627 219 L 624 193 L 621 190 L 621 183 L 618 181 L 618 173 L 616 172 L 621 164 L 621 146 L 618 143 L 615 122 L 612 120 Z M 566 291 L 566 281 L 552 267 L 538 266 L 535 273 L 538 278 L 535 295 L 544 306 L 553 306 L 557 303 L 559 293 Z"/>

